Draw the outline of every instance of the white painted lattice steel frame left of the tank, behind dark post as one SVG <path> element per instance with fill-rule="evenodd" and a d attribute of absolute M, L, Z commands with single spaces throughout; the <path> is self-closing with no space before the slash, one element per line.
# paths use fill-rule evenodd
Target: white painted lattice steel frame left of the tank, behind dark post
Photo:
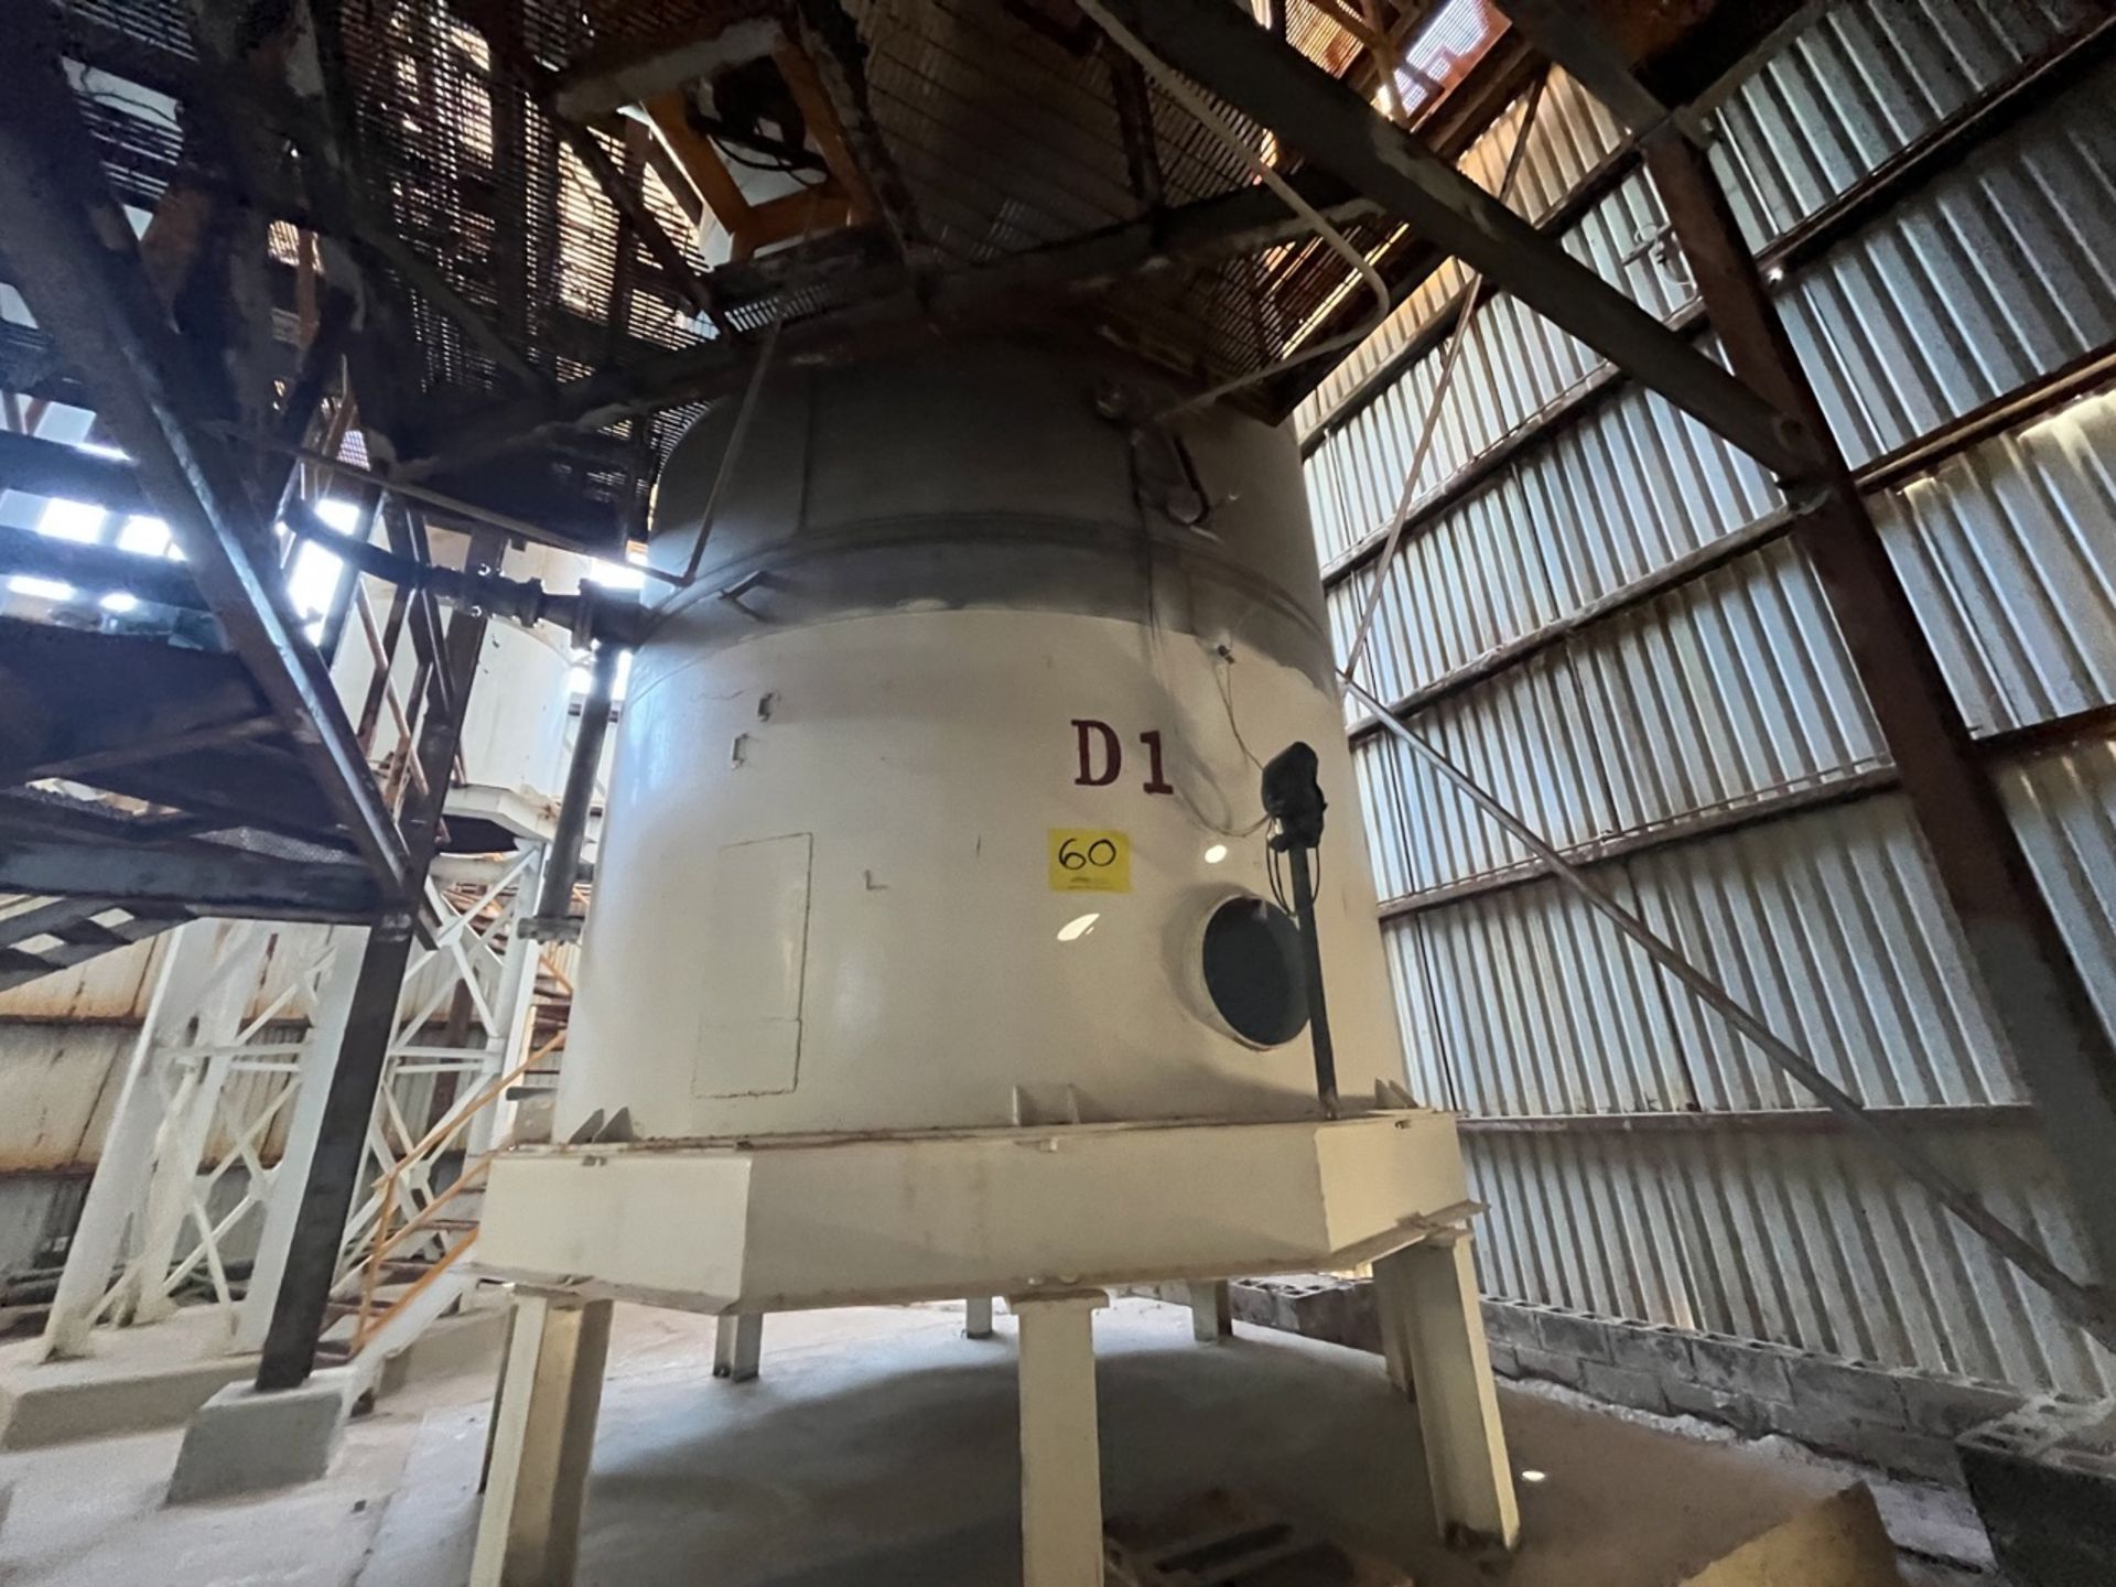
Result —
<path fill-rule="evenodd" d="M 535 990 L 535 946 L 512 923 L 533 899 L 537 863 L 540 851 L 523 851 L 455 897 L 438 882 L 427 884 L 442 925 L 406 973 L 370 1126 L 377 1183 L 427 1134 L 425 1111 L 440 1077 L 457 1077 L 453 1109 L 461 1111 L 518 1060 Z M 146 1325 L 169 1316 L 182 1284 L 201 1270 L 212 1303 L 226 1314 L 229 1346 L 262 1344 L 364 937 L 364 929 L 254 920 L 197 920 L 171 935 L 68 1246 L 44 1329 L 47 1354 L 87 1354 L 99 1322 Z M 415 1041 L 459 988 L 478 1043 Z M 305 1024 L 296 1041 L 279 1037 L 290 1022 Z M 491 1145 L 491 1111 L 472 1130 L 472 1151 Z M 212 1210 L 214 1187 L 235 1170 L 241 1193 L 224 1210 Z M 432 1174 L 432 1162 L 406 1164 L 400 1187 L 411 1206 L 438 1193 Z M 360 1261 L 377 1210 L 375 1196 L 355 1206 L 345 1270 Z M 226 1248 L 250 1225 L 258 1227 L 258 1244 L 248 1287 L 237 1293 Z"/>

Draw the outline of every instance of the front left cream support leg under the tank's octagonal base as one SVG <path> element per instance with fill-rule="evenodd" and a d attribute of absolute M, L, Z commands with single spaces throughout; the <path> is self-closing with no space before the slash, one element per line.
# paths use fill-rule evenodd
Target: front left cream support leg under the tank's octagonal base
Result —
<path fill-rule="evenodd" d="M 609 1310 L 609 1301 L 516 1293 L 470 1587 L 571 1585 Z"/>

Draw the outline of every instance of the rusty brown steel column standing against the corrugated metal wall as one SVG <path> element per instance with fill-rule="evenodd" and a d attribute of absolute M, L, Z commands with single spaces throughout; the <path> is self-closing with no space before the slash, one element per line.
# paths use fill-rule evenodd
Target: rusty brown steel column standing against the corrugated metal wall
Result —
<path fill-rule="evenodd" d="M 1705 150 L 1661 135 L 1646 150 L 1646 167 L 1733 372 L 1801 421 L 1822 446 L 1820 474 L 1811 482 L 1820 499 L 1792 535 L 1843 633 L 1985 999 L 2042 1113 L 2044 1138 L 2078 1208 L 2095 1276 L 2108 1287 L 2116 1280 L 2116 1172 L 2110 1168 L 2116 1162 L 2116 1045 L 1998 787 L 1978 764 L 1947 675 L 1830 438 L 1816 389 Z"/>

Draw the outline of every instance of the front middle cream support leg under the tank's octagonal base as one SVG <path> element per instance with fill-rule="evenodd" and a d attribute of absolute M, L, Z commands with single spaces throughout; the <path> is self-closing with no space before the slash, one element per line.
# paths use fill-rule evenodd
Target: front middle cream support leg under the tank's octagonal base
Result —
<path fill-rule="evenodd" d="M 1100 1291 L 1009 1301 L 1022 1320 L 1022 1587 L 1100 1587 L 1102 1449 L 1094 1411 Z"/>

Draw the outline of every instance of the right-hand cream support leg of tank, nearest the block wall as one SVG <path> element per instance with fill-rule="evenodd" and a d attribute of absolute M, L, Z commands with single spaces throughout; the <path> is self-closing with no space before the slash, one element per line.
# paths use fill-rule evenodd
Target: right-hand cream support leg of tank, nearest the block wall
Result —
<path fill-rule="evenodd" d="M 1449 1543 L 1521 1540 L 1466 1229 L 1373 1263 L 1388 1373 L 1418 1401 L 1433 1515 Z"/>

